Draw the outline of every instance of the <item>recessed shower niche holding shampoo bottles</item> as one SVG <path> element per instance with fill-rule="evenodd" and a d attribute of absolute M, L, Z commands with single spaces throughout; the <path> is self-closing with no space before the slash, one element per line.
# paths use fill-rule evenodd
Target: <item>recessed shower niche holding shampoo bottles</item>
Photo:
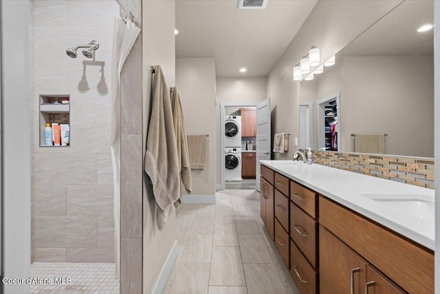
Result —
<path fill-rule="evenodd" d="M 69 147 L 70 95 L 40 94 L 39 105 L 40 147 Z M 46 136 L 49 131 L 52 135 Z"/>

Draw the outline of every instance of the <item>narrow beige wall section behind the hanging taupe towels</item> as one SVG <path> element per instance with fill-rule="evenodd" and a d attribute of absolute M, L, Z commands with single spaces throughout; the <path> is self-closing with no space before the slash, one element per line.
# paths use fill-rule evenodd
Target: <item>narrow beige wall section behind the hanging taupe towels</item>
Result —
<path fill-rule="evenodd" d="M 143 109 L 142 154 L 136 151 L 134 160 L 142 163 L 143 175 L 143 225 L 142 225 L 142 293 L 162 293 L 159 275 L 166 275 L 169 262 L 174 262 L 168 255 L 173 255 L 176 242 L 175 209 L 172 206 L 166 226 L 159 231 L 155 222 L 156 203 L 148 177 L 143 171 L 143 160 L 148 130 L 148 114 L 151 103 L 151 66 L 161 65 L 168 87 L 175 85 L 175 1 L 142 1 L 142 86 L 143 101 L 138 106 Z M 137 149 L 136 149 L 137 150 Z M 136 247 L 137 248 L 137 244 Z M 135 255 L 133 255 L 135 258 Z M 136 260 L 133 260 L 136 262 Z M 165 266 L 165 268 L 164 268 Z M 172 264 L 171 264 L 172 266 Z M 170 268 L 169 268 L 170 269 Z M 136 274 L 135 271 L 133 273 Z M 162 277 L 165 278 L 166 277 Z M 157 283 L 157 286 L 155 286 Z M 137 284 L 137 281 L 136 281 Z M 128 292 L 127 292 L 128 293 Z M 133 288 L 130 293 L 141 293 Z"/>

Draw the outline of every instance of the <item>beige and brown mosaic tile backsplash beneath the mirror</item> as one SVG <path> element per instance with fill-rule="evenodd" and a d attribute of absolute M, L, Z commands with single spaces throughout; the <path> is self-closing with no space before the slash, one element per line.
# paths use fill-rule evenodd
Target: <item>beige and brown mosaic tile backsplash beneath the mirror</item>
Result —
<path fill-rule="evenodd" d="M 314 151 L 314 163 L 434 189 L 434 159 L 384 154 Z"/>

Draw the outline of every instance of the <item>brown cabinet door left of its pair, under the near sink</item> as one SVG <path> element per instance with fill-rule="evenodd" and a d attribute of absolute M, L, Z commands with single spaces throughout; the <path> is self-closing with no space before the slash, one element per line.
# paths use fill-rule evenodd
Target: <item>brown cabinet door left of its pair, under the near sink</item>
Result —
<path fill-rule="evenodd" d="M 320 293 L 364 293 L 366 262 L 322 226 L 319 236 Z"/>

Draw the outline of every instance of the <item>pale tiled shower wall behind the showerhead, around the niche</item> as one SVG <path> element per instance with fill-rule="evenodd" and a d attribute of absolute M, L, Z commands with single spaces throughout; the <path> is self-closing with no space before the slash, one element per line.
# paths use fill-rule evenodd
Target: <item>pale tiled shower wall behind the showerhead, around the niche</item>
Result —
<path fill-rule="evenodd" d="M 110 90 L 119 6 L 108 0 L 32 3 L 32 260 L 114 262 Z M 94 61 L 79 51 L 76 59 L 65 54 L 91 40 L 100 43 Z M 70 95 L 70 147 L 39 147 L 39 94 Z"/>

